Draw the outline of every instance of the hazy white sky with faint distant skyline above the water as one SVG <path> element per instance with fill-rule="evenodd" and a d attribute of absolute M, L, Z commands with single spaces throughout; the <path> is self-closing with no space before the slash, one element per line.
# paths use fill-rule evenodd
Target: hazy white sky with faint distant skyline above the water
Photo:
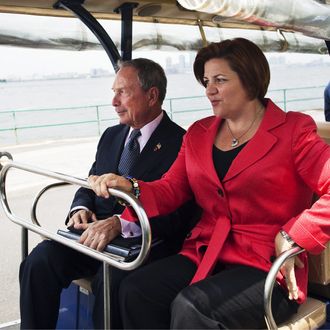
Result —
<path fill-rule="evenodd" d="M 0 46 L 0 79 L 33 79 L 56 74 L 93 74 L 95 71 L 114 73 L 105 51 L 38 50 Z M 266 53 L 270 63 L 330 64 L 330 56 L 297 53 Z M 148 57 L 169 73 L 191 71 L 195 52 L 188 51 L 136 51 L 133 57 Z"/>

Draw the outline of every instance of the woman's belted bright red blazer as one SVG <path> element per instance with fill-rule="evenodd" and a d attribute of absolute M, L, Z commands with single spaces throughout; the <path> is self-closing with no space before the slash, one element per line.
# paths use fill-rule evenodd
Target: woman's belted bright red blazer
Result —
<path fill-rule="evenodd" d="M 212 159 L 221 122 L 208 117 L 186 133 L 178 158 L 161 180 L 140 182 L 149 217 L 167 214 L 195 197 L 199 223 L 181 253 L 198 265 L 193 282 L 205 278 L 216 261 L 268 271 L 274 239 L 283 228 L 311 253 L 330 240 L 330 147 L 307 115 L 279 109 L 267 101 L 263 121 L 233 161 L 222 182 Z M 313 192 L 320 199 L 312 206 Z M 124 218 L 133 219 L 129 211 Z M 206 250 L 206 252 L 205 252 Z M 296 270 L 302 302 L 307 290 L 307 257 Z M 285 286 L 283 278 L 278 280 Z"/>

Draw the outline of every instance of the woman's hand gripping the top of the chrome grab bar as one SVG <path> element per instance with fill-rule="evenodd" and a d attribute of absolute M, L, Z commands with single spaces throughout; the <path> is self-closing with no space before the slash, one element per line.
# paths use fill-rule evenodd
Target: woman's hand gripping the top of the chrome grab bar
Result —
<path fill-rule="evenodd" d="M 108 188 L 118 188 L 125 192 L 132 192 L 132 184 L 123 176 L 107 173 L 100 176 L 91 175 L 88 183 L 99 197 L 109 198 Z"/>

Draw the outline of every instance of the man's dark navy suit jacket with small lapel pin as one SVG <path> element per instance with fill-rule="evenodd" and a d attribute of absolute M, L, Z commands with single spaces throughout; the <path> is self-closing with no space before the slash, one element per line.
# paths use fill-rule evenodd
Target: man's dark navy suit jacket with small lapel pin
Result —
<path fill-rule="evenodd" d="M 108 128 L 103 133 L 89 175 L 117 173 L 128 132 L 128 126 L 117 125 Z M 176 159 L 184 134 L 185 130 L 171 121 L 164 112 L 162 121 L 143 148 L 132 176 L 144 181 L 159 179 Z M 98 219 L 108 218 L 113 214 L 121 214 L 123 211 L 123 207 L 118 204 L 116 198 L 97 197 L 92 190 L 86 188 L 80 188 L 75 194 L 71 209 L 76 206 L 87 207 L 96 214 Z M 153 237 L 167 240 L 173 253 L 176 252 L 184 237 L 195 224 L 196 214 L 195 204 L 189 202 L 169 216 L 151 219 Z"/>

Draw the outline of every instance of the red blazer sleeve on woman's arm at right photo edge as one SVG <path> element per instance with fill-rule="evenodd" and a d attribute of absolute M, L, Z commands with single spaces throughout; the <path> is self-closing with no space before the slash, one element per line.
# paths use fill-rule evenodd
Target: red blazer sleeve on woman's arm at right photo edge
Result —
<path fill-rule="evenodd" d="M 319 199 L 283 229 L 298 245 L 317 254 L 330 240 L 330 147 L 316 133 L 312 119 L 299 120 L 296 126 L 292 145 L 296 169 Z"/>

